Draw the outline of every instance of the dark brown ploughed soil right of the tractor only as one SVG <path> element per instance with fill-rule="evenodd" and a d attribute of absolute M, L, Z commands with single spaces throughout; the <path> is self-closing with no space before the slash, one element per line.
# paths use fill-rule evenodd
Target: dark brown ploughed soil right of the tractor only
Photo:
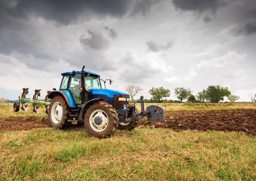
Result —
<path fill-rule="evenodd" d="M 256 109 L 168 111 L 166 121 L 150 123 L 146 118 L 139 125 L 180 130 L 244 131 L 256 135 Z"/>

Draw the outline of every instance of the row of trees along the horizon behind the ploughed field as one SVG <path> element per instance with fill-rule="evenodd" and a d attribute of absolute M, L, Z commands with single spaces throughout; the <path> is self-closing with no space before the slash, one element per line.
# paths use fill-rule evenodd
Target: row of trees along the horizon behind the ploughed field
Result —
<path fill-rule="evenodd" d="M 128 85 L 125 86 L 126 92 L 131 96 L 131 99 L 134 100 L 134 96 L 144 90 L 141 86 Z M 132 92 L 132 94 L 131 94 Z M 190 88 L 176 87 L 174 89 L 174 97 L 178 101 L 167 100 L 166 98 L 170 97 L 171 91 L 163 87 L 155 88 L 152 87 L 149 89 L 148 93 L 151 95 L 151 99 L 145 99 L 145 102 L 150 103 L 182 103 L 184 100 L 195 102 L 195 103 L 218 103 L 224 101 L 226 97 L 231 103 L 235 103 L 240 97 L 238 95 L 232 95 L 228 87 L 224 86 L 208 86 L 207 89 L 204 89 L 198 92 L 196 95 L 193 95 L 193 91 Z M 256 94 L 250 93 L 248 96 L 251 98 L 252 102 L 256 102 Z"/>

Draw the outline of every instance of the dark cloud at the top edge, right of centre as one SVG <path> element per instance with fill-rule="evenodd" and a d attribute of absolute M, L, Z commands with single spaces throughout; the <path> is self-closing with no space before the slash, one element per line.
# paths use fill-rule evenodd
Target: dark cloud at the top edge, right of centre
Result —
<path fill-rule="evenodd" d="M 172 0 L 176 9 L 192 11 L 196 13 L 211 12 L 215 14 L 219 8 L 227 6 L 225 0 Z"/>

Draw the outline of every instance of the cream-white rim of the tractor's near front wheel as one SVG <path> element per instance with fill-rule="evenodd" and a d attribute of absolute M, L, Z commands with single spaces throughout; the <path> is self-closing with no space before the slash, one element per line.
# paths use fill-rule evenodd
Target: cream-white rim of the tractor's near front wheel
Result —
<path fill-rule="evenodd" d="M 108 127 L 108 115 L 98 109 L 90 115 L 90 127 L 96 132 L 102 132 Z"/>

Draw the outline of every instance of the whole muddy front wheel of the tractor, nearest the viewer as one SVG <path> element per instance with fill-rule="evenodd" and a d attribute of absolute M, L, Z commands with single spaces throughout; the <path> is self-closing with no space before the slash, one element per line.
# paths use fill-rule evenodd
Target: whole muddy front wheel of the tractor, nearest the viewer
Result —
<path fill-rule="evenodd" d="M 95 137 L 106 138 L 115 132 L 118 124 L 116 110 L 108 103 L 96 102 L 84 114 L 84 127 Z"/>

